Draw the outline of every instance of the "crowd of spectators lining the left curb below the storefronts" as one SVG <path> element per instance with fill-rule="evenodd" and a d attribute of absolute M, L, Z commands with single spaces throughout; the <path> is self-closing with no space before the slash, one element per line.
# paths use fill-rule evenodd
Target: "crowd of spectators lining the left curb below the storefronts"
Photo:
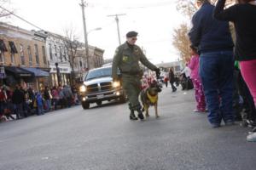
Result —
<path fill-rule="evenodd" d="M 68 85 L 52 88 L 45 86 L 40 91 L 35 91 L 32 87 L 23 88 L 20 84 L 14 89 L 6 85 L 0 87 L 1 121 L 40 116 L 72 105 L 79 105 L 79 96 L 76 88 Z"/>

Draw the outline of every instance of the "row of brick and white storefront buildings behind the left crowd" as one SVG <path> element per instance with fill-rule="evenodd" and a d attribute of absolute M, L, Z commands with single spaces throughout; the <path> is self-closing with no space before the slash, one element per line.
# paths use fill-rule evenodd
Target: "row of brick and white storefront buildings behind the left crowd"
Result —
<path fill-rule="evenodd" d="M 0 22 L 0 79 L 42 89 L 70 85 L 72 78 L 83 78 L 88 71 L 84 43 L 72 42 L 70 48 L 67 42 L 66 37 L 49 31 L 27 31 Z M 89 46 L 90 69 L 103 65 L 103 53 L 104 50 Z M 18 70 L 24 74 L 18 74 Z M 1 76 L 4 71 L 8 77 Z M 11 73 L 14 77 L 9 76 Z"/>

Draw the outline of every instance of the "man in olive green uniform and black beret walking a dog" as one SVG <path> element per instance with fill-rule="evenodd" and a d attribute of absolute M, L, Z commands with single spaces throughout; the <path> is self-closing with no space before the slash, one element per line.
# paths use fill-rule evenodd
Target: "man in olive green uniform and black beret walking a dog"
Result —
<path fill-rule="evenodd" d="M 119 81 L 117 75 L 118 69 L 122 75 L 122 85 L 125 94 L 129 99 L 129 109 L 131 110 L 130 119 L 137 120 L 137 116 L 143 120 L 142 106 L 139 103 L 138 96 L 141 91 L 142 70 L 139 61 L 147 66 L 150 70 L 155 71 L 156 75 L 160 75 L 160 69 L 150 63 L 135 42 L 137 41 L 137 32 L 129 31 L 126 34 L 126 42 L 120 45 L 113 56 L 112 77 L 113 81 Z M 138 115 L 135 116 L 134 111 Z"/>

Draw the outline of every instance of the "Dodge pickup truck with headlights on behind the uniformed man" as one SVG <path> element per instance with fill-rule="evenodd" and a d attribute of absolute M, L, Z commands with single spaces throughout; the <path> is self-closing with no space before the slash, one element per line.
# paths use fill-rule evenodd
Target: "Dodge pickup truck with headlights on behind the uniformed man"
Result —
<path fill-rule="evenodd" d="M 113 82 L 112 67 L 101 67 L 88 71 L 84 83 L 79 88 L 79 94 L 84 109 L 90 108 L 91 103 L 102 105 L 104 100 L 119 99 L 126 101 L 121 82 Z"/>

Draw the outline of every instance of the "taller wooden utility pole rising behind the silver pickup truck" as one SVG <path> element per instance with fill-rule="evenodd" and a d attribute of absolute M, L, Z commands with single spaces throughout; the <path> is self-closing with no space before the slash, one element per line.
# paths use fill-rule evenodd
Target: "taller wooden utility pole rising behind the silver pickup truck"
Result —
<path fill-rule="evenodd" d="M 87 7 L 88 3 L 81 0 L 81 4 L 79 4 L 82 8 L 83 14 L 83 23 L 84 23 L 84 44 L 85 44 L 85 58 L 86 58 L 86 70 L 90 70 L 90 59 L 89 59 L 89 46 L 88 46 L 88 37 L 87 37 L 87 30 L 86 30 L 86 22 L 85 22 L 85 15 L 84 15 L 84 7 Z"/>

